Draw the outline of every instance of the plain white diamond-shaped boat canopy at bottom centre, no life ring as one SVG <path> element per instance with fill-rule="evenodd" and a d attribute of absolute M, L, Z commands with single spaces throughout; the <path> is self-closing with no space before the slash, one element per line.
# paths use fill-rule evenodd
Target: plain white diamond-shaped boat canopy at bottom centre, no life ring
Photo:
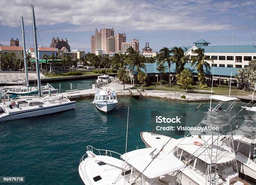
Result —
<path fill-rule="evenodd" d="M 156 155 L 158 151 L 154 148 L 143 148 L 127 152 L 121 157 L 123 160 L 126 160 L 128 164 L 136 168 L 136 170 L 143 172 L 142 174 L 150 179 L 166 175 L 185 167 L 184 163 L 179 161 L 174 155 L 167 155 L 164 152 L 160 152 L 152 161 L 151 153 Z M 150 162 L 151 164 L 148 166 Z"/>

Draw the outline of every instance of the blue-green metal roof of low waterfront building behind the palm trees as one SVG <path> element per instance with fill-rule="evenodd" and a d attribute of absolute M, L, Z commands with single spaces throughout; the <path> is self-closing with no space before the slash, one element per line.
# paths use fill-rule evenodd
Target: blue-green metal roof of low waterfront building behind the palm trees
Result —
<path fill-rule="evenodd" d="M 157 68 L 157 63 L 145 63 L 146 65 L 146 70 L 141 69 L 141 71 L 143 71 L 144 73 L 160 73 L 158 70 L 156 70 Z M 164 62 L 164 66 L 167 66 L 165 69 L 165 73 L 169 72 L 169 68 L 168 68 L 168 63 Z M 127 65 L 126 66 L 128 69 L 131 69 L 131 66 Z M 197 74 L 197 69 L 195 66 L 192 66 L 192 63 L 186 63 L 185 68 L 188 68 L 192 73 Z M 228 67 L 214 67 L 214 75 L 215 76 L 227 76 L 230 77 L 231 75 L 231 71 L 232 71 L 232 76 L 234 77 L 236 75 L 236 73 L 238 73 L 238 69 L 241 68 L 228 68 Z M 170 68 L 170 72 L 171 73 L 176 73 L 176 65 L 174 63 L 171 64 L 171 68 Z M 211 69 L 209 70 L 205 70 L 205 74 L 207 75 L 212 75 L 213 72 L 213 67 L 211 67 Z M 136 69 L 133 69 L 133 73 L 137 74 L 138 71 Z"/>

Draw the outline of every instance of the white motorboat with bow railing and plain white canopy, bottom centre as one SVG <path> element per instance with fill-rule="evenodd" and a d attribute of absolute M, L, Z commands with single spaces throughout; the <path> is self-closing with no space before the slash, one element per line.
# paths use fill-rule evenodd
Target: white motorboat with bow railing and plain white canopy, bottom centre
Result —
<path fill-rule="evenodd" d="M 85 185 L 176 185 L 175 173 L 184 166 L 173 155 L 154 148 L 120 155 L 87 146 L 78 171 Z"/>

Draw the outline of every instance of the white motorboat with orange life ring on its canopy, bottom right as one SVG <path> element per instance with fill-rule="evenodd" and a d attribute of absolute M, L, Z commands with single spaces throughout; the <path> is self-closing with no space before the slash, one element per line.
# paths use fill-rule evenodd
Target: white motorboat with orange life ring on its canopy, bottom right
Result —
<path fill-rule="evenodd" d="M 238 181 L 235 154 L 215 144 L 196 137 L 174 139 L 151 132 L 141 132 L 141 138 L 146 147 L 157 149 L 171 139 L 163 152 L 187 166 L 177 174 L 182 185 L 243 185 Z"/>

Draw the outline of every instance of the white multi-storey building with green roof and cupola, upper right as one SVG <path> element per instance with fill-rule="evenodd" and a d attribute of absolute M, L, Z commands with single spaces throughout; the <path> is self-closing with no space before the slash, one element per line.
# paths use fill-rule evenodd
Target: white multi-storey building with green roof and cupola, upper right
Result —
<path fill-rule="evenodd" d="M 211 66 L 244 68 L 248 62 L 256 59 L 256 46 L 209 46 L 209 42 L 200 39 L 194 42 L 195 46 L 183 46 L 186 55 L 195 56 L 193 53 L 197 48 L 205 50 L 205 56 L 211 58 L 208 61 Z"/>

